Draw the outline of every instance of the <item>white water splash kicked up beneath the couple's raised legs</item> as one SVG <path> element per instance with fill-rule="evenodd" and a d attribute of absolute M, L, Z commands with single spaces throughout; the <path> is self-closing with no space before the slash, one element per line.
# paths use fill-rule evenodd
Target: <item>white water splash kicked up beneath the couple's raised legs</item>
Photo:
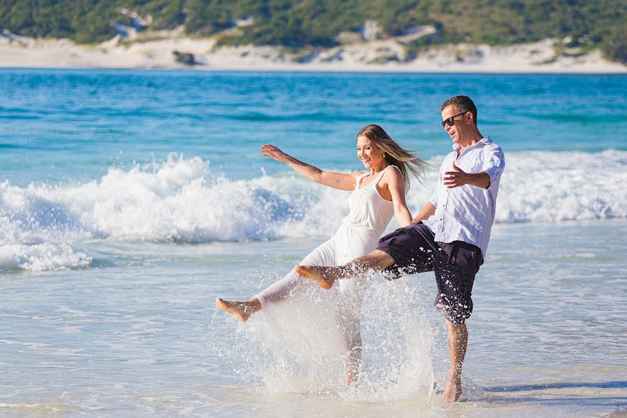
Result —
<path fill-rule="evenodd" d="M 341 297 L 315 284 L 301 286 L 247 323 L 232 321 L 226 327 L 233 326 L 233 334 L 212 339 L 217 342 L 210 349 L 247 385 L 271 392 L 332 394 L 362 402 L 427 399 L 433 392 L 434 340 L 419 307 L 421 297 L 424 290 L 405 280 L 376 277 L 370 282 L 361 309 L 362 363 L 351 385 L 346 384 L 347 350 L 336 318 Z"/>

